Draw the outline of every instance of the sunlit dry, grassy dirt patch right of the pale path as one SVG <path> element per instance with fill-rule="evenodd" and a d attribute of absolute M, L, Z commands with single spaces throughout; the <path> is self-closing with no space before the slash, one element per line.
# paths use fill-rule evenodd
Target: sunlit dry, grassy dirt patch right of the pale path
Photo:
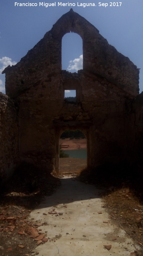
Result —
<path fill-rule="evenodd" d="M 143 204 L 128 187 L 108 190 L 105 200 L 106 211 L 115 223 L 134 240 L 134 252 L 143 255 Z M 140 251 L 135 244 L 140 245 Z M 133 255 L 133 256 L 136 256 Z"/>

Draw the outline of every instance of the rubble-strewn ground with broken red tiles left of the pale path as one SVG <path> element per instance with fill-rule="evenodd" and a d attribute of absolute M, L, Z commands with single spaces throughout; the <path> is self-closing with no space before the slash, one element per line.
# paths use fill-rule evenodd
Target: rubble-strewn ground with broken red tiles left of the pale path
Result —
<path fill-rule="evenodd" d="M 47 232 L 43 234 L 39 228 L 42 225 L 47 225 L 47 223 L 29 219 L 29 215 L 31 213 L 31 208 L 37 206 L 42 200 L 43 193 L 51 195 L 55 191 L 57 185 L 60 184 L 60 181 L 53 176 L 49 176 L 47 184 L 42 184 L 43 193 L 39 191 L 39 187 L 37 187 L 37 190 L 35 189 L 34 192 L 31 192 L 29 191 L 28 185 L 29 174 L 25 173 L 25 177 L 22 176 L 22 173 L 21 176 L 19 173 L 17 175 L 15 174 L 15 176 L 7 182 L 5 189 L 1 194 L 0 255 L 7 256 L 8 252 L 11 256 L 38 255 L 39 252 L 36 253 L 35 248 L 39 244 L 44 244 L 48 241 L 48 238 L 46 237 Z"/>

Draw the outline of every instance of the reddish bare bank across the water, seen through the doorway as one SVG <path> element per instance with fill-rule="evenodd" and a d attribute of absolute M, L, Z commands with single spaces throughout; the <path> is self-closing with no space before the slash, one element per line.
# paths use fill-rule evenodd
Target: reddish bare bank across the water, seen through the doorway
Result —
<path fill-rule="evenodd" d="M 61 149 L 72 150 L 72 149 L 85 149 L 86 148 L 86 139 L 60 139 L 59 144 Z"/>

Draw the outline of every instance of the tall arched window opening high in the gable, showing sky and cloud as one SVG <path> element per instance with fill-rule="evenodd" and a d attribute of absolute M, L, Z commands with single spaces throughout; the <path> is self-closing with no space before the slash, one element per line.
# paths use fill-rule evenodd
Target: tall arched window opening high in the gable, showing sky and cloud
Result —
<path fill-rule="evenodd" d="M 83 69 L 82 38 L 76 33 L 66 33 L 62 38 L 61 66 L 62 70 L 71 73 Z"/>

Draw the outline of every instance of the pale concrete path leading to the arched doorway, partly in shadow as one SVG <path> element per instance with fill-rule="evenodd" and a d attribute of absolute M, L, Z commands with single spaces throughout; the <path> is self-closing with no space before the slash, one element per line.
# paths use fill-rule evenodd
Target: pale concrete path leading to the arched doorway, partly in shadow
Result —
<path fill-rule="evenodd" d="M 132 239 L 112 224 L 102 208 L 100 192 L 94 185 L 75 181 L 71 176 L 61 179 L 57 191 L 31 212 L 30 219 L 47 223 L 39 227 L 48 238 L 37 246 L 39 256 L 130 256 L 134 252 Z M 54 209 L 58 214 L 49 214 Z M 108 251 L 104 245 L 112 247 Z"/>

